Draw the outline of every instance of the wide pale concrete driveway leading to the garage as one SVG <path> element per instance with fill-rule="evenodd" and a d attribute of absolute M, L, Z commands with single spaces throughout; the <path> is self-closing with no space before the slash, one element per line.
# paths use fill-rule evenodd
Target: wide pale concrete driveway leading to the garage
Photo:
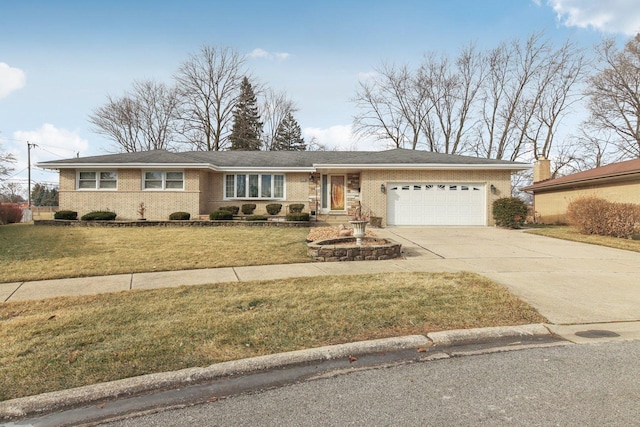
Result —
<path fill-rule="evenodd" d="M 552 323 L 640 320 L 640 253 L 493 227 L 380 231 L 403 244 L 410 269 L 480 273 Z"/>

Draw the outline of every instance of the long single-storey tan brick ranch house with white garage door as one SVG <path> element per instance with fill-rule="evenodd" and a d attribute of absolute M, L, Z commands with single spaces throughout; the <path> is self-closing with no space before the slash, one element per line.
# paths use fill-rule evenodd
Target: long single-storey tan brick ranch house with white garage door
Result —
<path fill-rule="evenodd" d="M 511 173 L 523 163 L 417 150 L 163 150 L 42 162 L 60 171 L 60 209 L 79 215 L 111 210 L 135 219 L 176 211 L 207 218 L 224 205 L 293 203 L 305 211 L 346 216 L 358 203 L 383 225 L 493 224 L 492 202 L 511 195 Z M 346 218 L 345 218 L 346 219 Z"/>

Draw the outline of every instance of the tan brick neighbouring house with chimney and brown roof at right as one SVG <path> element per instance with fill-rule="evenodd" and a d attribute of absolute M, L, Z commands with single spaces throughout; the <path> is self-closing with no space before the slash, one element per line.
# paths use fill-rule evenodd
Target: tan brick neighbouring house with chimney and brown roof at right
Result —
<path fill-rule="evenodd" d="M 534 182 L 522 190 L 533 193 L 537 222 L 566 222 L 567 206 L 581 197 L 599 197 L 610 202 L 640 204 L 640 159 L 574 173 L 551 176 L 549 160 L 534 165 Z"/>

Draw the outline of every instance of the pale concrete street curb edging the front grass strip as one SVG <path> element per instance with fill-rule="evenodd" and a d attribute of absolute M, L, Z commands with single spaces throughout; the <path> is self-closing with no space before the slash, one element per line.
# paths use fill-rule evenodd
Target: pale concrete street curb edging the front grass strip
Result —
<path fill-rule="evenodd" d="M 281 368 L 295 364 L 320 362 L 376 352 L 389 352 L 430 346 L 455 346 L 477 341 L 518 336 L 551 335 L 542 324 L 495 328 L 460 329 L 424 335 L 383 338 L 338 344 L 274 355 L 217 363 L 205 368 L 187 368 L 172 372 L 141 375 L 133 378 L 43 393 L 0 402 L 0 420 L 37 416 L 72 407 L 186 387 L 234 375 Z"/>

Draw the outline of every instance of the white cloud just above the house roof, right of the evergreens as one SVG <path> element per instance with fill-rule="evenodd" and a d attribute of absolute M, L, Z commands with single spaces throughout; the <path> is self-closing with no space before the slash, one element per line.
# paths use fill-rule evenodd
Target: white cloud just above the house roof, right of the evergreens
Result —
<path fill-rule="evenodd" d="M 358 139 L 353 135 L 351 126 L 335 125 L 328 128 L 304 128 L 302 136 L 307 144 L 315 138 L 318 144 L 327 149 L 338 151 L 380 151 L 392 148 L 383 141 L 371 138 Z"/>

